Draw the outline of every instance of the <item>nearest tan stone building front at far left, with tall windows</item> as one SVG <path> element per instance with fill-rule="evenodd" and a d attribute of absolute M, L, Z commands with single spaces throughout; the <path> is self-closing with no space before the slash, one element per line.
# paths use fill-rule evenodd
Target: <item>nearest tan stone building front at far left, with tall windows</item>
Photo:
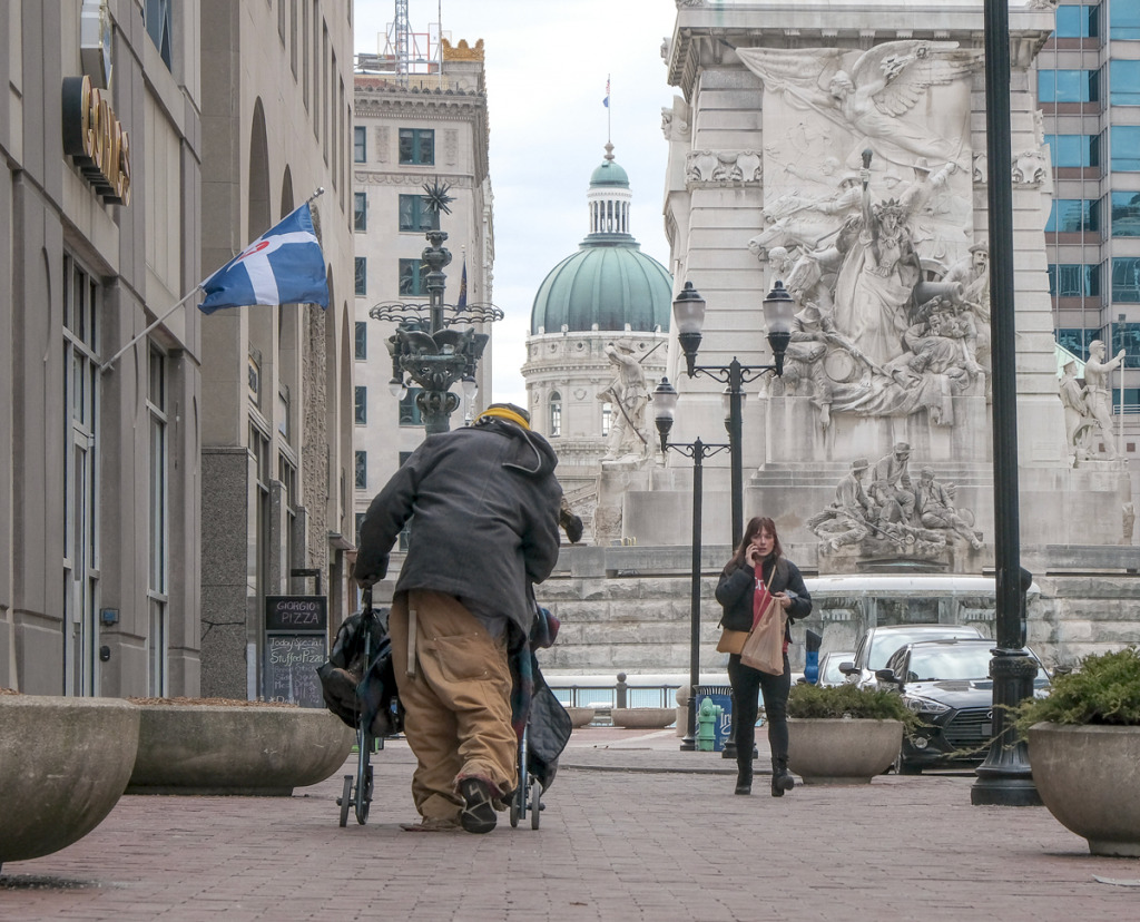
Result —
<path fill-rule="evenodd" d="M 171 308 L 201 278 L 201 5 L 152 6 L 0 7 L 0 686 L 30 694 L 198 691 L 201 321 Z"/>

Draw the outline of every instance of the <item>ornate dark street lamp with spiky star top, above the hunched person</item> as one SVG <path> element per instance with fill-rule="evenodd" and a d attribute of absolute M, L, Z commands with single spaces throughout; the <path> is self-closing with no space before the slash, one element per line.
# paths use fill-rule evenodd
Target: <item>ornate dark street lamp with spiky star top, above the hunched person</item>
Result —
<path fill-rule="evenodd" d="M 424 186 L 424 203 L 437 214 L 451 213 L 447 195 L 448 186 L 431 183 Z M 374 320 L 398 324 L 396 333 L 385 345 L 392 357 L 392 380 L 389 389 L 397 400 L 407 393 L 410 378 L 421 387 L 416 394 L 416 407 L 424 421 L 424 430 L 431 435 L 447 432 L 449 417 L 459 406 L 459 398 L 451 392 L 451 385 L 462 382 L 467 399 L 475 395 L 475 368 L 483 354 L 489 337 L 477 333 L 474 327 L 458 329 L 458 324 L 490 324 L 503 319 L 503 311 L 494 304 L 445 304 L 443 289 L 447 276 L 443 268 L 451 262 L 451 253 L 445 248 L 447 234 L 429 230 L 430 246 L 424 247 L 422 259 L 427 272 L 427 304 L 385 301 L 368 311 Z M 461 296 L 461 302 L 465 300 Z"/>

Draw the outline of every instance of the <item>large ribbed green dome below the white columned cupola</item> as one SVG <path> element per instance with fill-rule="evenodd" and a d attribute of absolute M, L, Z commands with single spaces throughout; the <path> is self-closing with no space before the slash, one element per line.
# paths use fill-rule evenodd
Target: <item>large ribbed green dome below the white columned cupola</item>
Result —
<path fill-rule="evenodd" d="M 595 174 L 604 169 L 603 164 Z M 622 181 L 625 171 L 620 166 Z M 609 174 L 609 176 L 612 176 Z M 530 333 L 585 333 L 597 325 L 635 333 L 669 328 L 673 278 L 661 263 L 641 252 L 628 234 L 591 234 L 578 252 L 555 266 L 535 295 Z"/>

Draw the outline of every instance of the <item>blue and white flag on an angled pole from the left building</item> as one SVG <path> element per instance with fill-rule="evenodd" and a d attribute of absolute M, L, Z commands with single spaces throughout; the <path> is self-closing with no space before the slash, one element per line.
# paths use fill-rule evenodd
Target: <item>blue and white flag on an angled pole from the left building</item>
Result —
<path fill-rule="evenodd" d="M 320 304 L 328 308 L 325 254 L 312 229 L 306 202 L 251 243 L 199 286 L 206 299 L 198 309 L 250 304 Z"/>

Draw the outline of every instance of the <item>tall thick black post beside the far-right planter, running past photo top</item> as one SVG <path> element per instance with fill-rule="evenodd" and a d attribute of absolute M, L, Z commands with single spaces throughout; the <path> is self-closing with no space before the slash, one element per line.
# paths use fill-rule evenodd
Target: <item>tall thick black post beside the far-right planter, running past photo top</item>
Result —
<path fill-rule="evenodd" d="M 1041 803 L 1041 797 L 1033 784 L 1026 745 L 1017 741 L 1005 711 L 1033 694 L 1037 672 L 1025 650 L 1025 593 L 1033 577 L 1021 568 L 1018 506 L 1009 0 L 985 0 L 984 16 L 997 639 L 990 661 L 994 737 L 990 754 L 977 768 L 970 802 L 1021 807 Z"/>

